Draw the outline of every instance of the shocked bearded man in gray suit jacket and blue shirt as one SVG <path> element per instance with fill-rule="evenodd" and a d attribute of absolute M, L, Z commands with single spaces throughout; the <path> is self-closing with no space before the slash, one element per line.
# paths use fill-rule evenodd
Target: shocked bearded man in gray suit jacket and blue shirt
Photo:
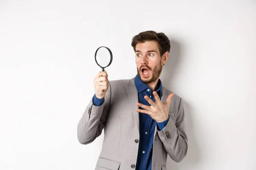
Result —
<path fill-rule="evenodd" d="M 170 42 L 163 33 L 145 31 L 132 38 L 137 75 L 108 81 L 106 71 L 93 80 L 95 94 L 78 123 L 81 144 L 104 128 L 95 170 L 166 170 L 167 153 L 176 162 L 187 152 L 182 99 L 159 77 Z"/>

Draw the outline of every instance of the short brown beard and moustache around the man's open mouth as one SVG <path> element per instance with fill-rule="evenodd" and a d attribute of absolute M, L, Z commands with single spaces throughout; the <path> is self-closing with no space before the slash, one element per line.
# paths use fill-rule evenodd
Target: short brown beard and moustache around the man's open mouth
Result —
<path fill-rule="evenodd" d="M 160 74 L 161 74 L 161 72 L 162 72 L 162 69 L 163 69 L 163 65 L 161 65 L 161 62 L 160 62 L 159 65 L 157 65 L 157 67 L 155 67 L 154 69 L 152 69 L 152 68 L 150 68 L 150 67 L 148 67 L 148 66 L 146 66 L 146 65 L 141 65 L 140 68 L 142 68 L 142 67 L 146 67 L 146 68 L 148 68 L 148 70 L 151 71 L 151 78 L 149 77 L 148 79 L 143 80 L 143 79 L 145 79 L 145 78 L 143 78 L 143 77 L 140 76 L 140 73 L 141 73 L 141 72 L 140 72 L 140 69 L 137 67 L 137 74 L 139 75 L 141 81 L 144 82 L 144 83 L 151 83 L 151 82 L 154 82 L 154 81 L 157 79 L 157 77 L 160 76 Z"/>

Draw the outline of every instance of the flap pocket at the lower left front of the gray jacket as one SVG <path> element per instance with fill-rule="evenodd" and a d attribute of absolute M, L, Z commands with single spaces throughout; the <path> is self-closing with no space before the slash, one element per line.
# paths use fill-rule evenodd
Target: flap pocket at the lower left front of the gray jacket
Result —
<path fill-rule="evenodd" d="M 99 170 L 118 170 L 120 166 L 119 161 L 114 161 L 111 159 L 99 157 L 97 161 L 97 167 L 99 167 Z M 104 168 L 104 169 L 103 169 Z"/>

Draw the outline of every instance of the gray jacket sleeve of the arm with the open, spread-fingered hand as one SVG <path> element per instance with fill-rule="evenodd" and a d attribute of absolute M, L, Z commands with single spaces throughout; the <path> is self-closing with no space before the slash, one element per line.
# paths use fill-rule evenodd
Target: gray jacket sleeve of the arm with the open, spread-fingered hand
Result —
<path fill-rule="evenodd" d="M 174 124 L 172 119 L 169 119 L 166 127 L 162 130 L 157 130 L 160 140 L 169 154 L 176 162 L 180 162 L 187 153 L 188 140 L 185 133 L 184 125 L 184 108 L 183 100 L 180 99 L 180 104 L 177 111 L 177 119 Z"/>

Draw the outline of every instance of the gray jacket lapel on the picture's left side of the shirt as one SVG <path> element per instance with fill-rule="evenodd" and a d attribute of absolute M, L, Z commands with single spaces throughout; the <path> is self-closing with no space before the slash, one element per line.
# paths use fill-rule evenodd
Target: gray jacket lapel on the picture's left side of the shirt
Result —
<path fill-rule="evenodd" d="M 136 109 L 138 108 L 137 106 L 137 102 L 139 101 L 138 100 L 138 91 L 137 91 L 137 88 L 134 84 L 134 79 L 130 79 L 130 81 L 128 82 L 128 85 L 126 86 L 126 91 L 127 91 L 127 94 L 128 94 L 128 98 L 129 98 L 129 102 L 130 102 L 130 105 L 131 105 L 131 110 L 132 110 L 132 113 L 134 115 L 134 118 L 136 120 L 136 127 L 138 129 L 138 132 L 140 131 L 140 121 L 139 121 L 139 113 L 136 112 Z"/>

